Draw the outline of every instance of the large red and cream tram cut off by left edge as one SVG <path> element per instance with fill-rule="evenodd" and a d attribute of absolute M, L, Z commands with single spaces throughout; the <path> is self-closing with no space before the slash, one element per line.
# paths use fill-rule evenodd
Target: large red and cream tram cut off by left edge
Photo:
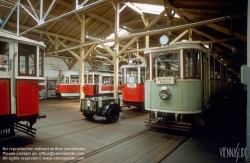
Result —
<path fill-rule="evenodd" d="M 34 136 L 33 124 L 45 117 L 39 114 L 44 48 L 42 42 L 0 31 L 0 137 L 13 136 L 14 129 Z"/>

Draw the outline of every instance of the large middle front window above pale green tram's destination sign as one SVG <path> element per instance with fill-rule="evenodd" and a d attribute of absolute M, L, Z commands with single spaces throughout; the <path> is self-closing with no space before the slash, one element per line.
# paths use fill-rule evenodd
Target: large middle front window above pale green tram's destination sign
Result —
<path fill-rule="evenodd" d="M 153 78 L 175 77 L 179 78 L 179 53 L 167 52 L 154 57 Z"/>

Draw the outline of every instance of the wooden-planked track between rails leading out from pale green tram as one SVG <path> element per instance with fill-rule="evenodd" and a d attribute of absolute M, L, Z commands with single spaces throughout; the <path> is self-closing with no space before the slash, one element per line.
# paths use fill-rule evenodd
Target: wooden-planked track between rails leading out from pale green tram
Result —
<path fill-rule="evenodd" d="M 104 147 L 101 147 L 99 149 L 96 149 L 94 151 L 91 151 L 85 155 L 81 155 L 79 156 L 78 158 L 76 158 L 76 160 L 74 161 L 69 161 L 67 163 L 77 163 L 77 162 L 112 162 L 112 161 L 115 161 L 115 162 L 128 162 L 127 159 L 130 159 L 131 156 L 133 157 L 134 155 L 139 155 L 139 156 L 134 156 L 132 159 L 131 159 L 131 162 L 161 162 L 164 158 L 166 158 L 170 153 L 172 153 L 179 145 L 181 145 L 186 139 L 187 137 L 181 137 L 181 136 L 170 136 L 167 140 L 167 141 L 172 141 L 172 143 L 169 143 L 170 145 L 170 148 L 168 148 L 167 150 L 163 150 L 161 151 L 162 153 L 160 153 L 159 155 L 157 155 L 157 157 L 152 157 L 151 160 L 148 158 L 150 158 L 151 156 L 147 156 L 147 152 L 148 150 L 146 148 L 144 148 L 145 150 L 145 155 L 141 156 L 141 154 L 138 154 L 142 151 L 142 148 L 140 146 L 140 143 L 136 143 L 138 144 L 138 148 L 135 146 L 132 146 L 132 143 L 140 140 L 141 138 L 143 138 L 143 136 L 146 138 L 143 138 L 144 140 L 146 139 L 152 139 L 152 129 L 151 128 L 148 128 L 148 129 L 145 129 L 143 131 L 140 131 L 134 135 L 131 135 L 129 137 L 126 137 L 124 139 L 121 139 L 117 142 L 114 142 L 114 143 L 111 143 L 109 145 L 106 145 Z M 159 131 L 156 131 L 156 132 L 159 132 Z M 161 135 L 162 133 L 158 133 L 159 135 Z M 136 140 L 137 138 L 137 140 Z M 165 143 L 167 142 L 166 140 L 164 140 L 163 138 L 162 139 L 159 139 L 158 142 L 162 142 L 164 145 Z M 142 144 L 142 143 L 141 143 Z M 149 145 L 151 145 L 149 143 Z M 123 150 L 120 150 L 120 151 L 117 151 L 117 153 L 113 153 L 114 151 L 116 151 L 117 149 L 121 149 L 121 147 L 125 147 L 125 149 Z M 131 149 L 133 149 L 133 152 L 131 152 L 130 154 L 128 154 L 128 151 L 130 151 Z M 137 148 L 137 149 L 135 149 Z M 154 150 L 154 148 L 152 148 L 151 150 Z M 109 153 L 113 153 L 113 155 L 110 155 Z M 122 156 L 121 153 L 125 153 L 124 155 L 125 156 Z M 142 152 L 141 152 L 142 153 Z M 152 153 L 152 151 L 151 151 Z M 121 156 L 116 156 L 117 154 L 120 154 Z M 150 152 L 149 152 L 149 155 L 150 155 Z M 141 161 L 143 160 L 143 161 Z M 130 161 L 129 161 L 130 162 Z"/>

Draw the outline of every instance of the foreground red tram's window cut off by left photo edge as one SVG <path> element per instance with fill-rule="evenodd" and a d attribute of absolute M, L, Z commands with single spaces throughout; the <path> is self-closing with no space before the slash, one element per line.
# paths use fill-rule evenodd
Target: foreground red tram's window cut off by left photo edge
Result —
<path fill-rule="evenodd" d="M 0 71 L 9 71 L 9 43 L 0 41 Z"/>

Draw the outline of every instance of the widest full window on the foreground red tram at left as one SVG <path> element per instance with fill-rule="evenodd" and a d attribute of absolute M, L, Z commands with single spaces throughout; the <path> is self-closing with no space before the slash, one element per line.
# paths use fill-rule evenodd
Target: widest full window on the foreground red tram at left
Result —
<path fill-rule="evenodd" d="M 18 44 L 18 75 L 36 76 L 36 46 Z"/>

